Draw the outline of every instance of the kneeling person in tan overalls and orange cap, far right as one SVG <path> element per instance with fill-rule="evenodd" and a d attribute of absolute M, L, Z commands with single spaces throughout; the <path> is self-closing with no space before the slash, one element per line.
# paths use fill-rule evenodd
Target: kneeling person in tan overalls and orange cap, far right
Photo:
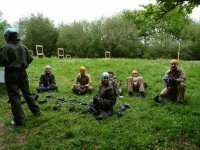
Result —
<path fill-rule="evenodd" d="M 155 101 L 161 102 L 161 98 L 169 98 L 174 99 L 180 104 L 184 102 L 186 88 L 185 74 L 183 69 L 178 67 L 178 64 L 179 62 L 176 59 L 170 61 L 170 68 L 165 72 L 163 77 L 166 87 L 154 99 Z"/>

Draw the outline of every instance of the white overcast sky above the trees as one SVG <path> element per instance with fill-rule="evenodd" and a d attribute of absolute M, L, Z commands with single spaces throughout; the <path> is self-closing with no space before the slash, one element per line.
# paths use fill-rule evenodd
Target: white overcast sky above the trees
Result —
<path fill-rule="evenodd" d="M 21 17 L 42 13 L 57 25 L 79 20 L 109 17 L 124 9 L 141 9 L 139 5 L 156 0 L 0 0 L 3 19 L 13 25 Z M 194 9 L 192 18 L 200 20 L 200 8 Z"/>

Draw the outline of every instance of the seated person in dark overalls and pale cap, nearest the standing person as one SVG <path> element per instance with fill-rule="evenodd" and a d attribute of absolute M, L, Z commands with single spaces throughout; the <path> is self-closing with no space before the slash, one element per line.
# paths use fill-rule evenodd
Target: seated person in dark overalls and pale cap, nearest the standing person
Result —
<path fill-rule="evenodd" d="M 57 90 L 55 75 L 52 73 L 51 66 L 44 68 L 44 74 L 40 76 L 38 92 Z"/>

